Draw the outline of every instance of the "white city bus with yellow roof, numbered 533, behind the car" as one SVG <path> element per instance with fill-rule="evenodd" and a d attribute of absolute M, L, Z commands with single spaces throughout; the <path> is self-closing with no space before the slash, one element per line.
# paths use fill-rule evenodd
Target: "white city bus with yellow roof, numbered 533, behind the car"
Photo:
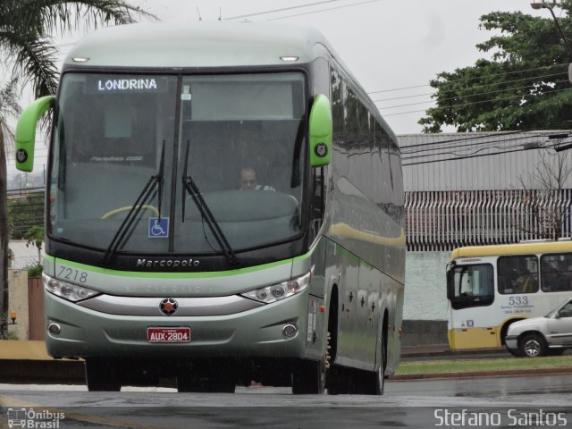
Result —
<path fill-rule="evenodd" d="M 447 273 L 451 349 L 501 347 L 513 322 L 572 296 L 572 241 L 457 248 Z"/>

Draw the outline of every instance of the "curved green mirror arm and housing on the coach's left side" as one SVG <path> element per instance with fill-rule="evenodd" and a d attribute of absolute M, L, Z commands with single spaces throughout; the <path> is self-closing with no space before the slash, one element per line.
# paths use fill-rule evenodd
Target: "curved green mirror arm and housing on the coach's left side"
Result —
<path fill-rule="evenodd" d="M 16 168 L 31 172 L 34 168 L 34 147 L 36 147 L 36 127 L 39 118 L 55 105 L 54 96 L 38 98 L 22 112 L 16 126 Z"/>

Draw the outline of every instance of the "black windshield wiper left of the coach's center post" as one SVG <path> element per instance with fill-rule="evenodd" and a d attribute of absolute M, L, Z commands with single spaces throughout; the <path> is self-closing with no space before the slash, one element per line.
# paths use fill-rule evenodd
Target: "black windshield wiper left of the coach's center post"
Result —
<path fill-rule="evenodd" d="M 130 230 L 131 225 L 137 219 L 141 209 L 147 203 L 147 200 L 151 196 L 151 192 L 153 192 L 154 186 L 157 185 L 157 199 L 158 199 L 158 217 L 161 220 L 161 206 L 163 204 L 163 183 L 164 183 L 164 140 L 163 140 L 163 148 L 161 149 L 161 162 L 159 165 L 159 172 L 149 177 L 147 184 L 139 193 L 139 197 L 135 200 L 135 204 L 131 206 L 129 213 L 123 219 L 122 224 L 119 226 L 117 231 L 115 231 L 114 238 L 109 243 L 109 246 L 105 250 L 104 253 L 104 264 L 106 265 L 111 257 L 114 256 L 117 248 L 121 245 L 122 241 L 125 239 L 125 235 L 127 231 Z"/>

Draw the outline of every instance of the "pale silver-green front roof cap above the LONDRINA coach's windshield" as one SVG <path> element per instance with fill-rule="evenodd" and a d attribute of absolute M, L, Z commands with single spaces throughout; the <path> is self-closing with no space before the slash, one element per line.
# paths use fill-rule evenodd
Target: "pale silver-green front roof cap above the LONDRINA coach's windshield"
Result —
<path fill-rule="evenodd" d="M 316 30 L 268 22 L 150 22 L 99 29 L 82 38 L 66 65 L 95 67 L 230 67 L 308 63 L 324 48 Z M 74 58 L 88 59 L 84 62 Z"/>

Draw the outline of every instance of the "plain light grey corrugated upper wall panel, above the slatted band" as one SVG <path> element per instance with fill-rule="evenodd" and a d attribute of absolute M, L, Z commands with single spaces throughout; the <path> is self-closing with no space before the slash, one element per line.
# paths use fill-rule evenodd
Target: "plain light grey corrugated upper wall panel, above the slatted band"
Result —
<path fill-rule="evenodd" d="M 398 137 L 406 191 L 538 189 L 533 173 L 557 131 L 408 134 Z M 568 160 L 572 151 L 567 154 Z M 572 176 L 564 183 L 572 188 Z"/>

